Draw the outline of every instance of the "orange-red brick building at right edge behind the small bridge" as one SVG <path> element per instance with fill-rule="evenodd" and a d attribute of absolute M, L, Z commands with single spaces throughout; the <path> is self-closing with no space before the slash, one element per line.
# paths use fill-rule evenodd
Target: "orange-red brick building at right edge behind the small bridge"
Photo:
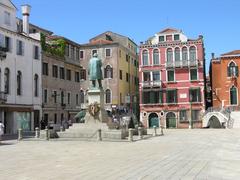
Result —
<path fill-rule="evenodd" d="M 210 78 L 212 87 L 212 104 L 214 108 L 231 107 L 239 110 L 239 70 L 240 50 L 212 57 Z"/>

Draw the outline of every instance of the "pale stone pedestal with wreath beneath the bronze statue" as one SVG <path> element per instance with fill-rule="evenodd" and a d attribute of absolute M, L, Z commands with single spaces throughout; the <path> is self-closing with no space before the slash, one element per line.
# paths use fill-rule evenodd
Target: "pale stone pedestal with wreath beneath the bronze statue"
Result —
<path fill-rule="evenodd" d="M 89 107 L 93 104 L 96 104 L 99 107 L 99 110 L 96 114 L 93 113 L 94 109 Z M 108 122 L 108 116 L 104 109 L 104 92 L 102 89 L 92 88 L 88 90 L 88 109 L 84 119 L 86 124 Z"/>

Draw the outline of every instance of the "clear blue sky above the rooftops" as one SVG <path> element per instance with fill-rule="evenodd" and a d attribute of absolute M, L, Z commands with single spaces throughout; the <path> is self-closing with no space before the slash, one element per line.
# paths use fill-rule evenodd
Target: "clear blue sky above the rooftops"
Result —
<path fill-rule="evenodd" d="M 173 27 L 189 38 L 204 36 L 207 70 L 216 56 L 240 49 L 239 0 L 12 0 L 19 9 L 30 4 L 30 22 L 78 43 L 107 30 L 137 44 Z M 208 71 L 207 71 L 208 72 Z"/>

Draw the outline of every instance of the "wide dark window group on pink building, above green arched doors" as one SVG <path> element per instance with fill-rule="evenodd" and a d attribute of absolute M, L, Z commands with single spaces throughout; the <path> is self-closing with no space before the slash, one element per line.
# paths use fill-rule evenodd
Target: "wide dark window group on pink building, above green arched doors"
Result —
<path fill-rule="evenodd" d="M 162 91 L 143 91 L 143 104 L 161 104 L 163 103 Z"/>

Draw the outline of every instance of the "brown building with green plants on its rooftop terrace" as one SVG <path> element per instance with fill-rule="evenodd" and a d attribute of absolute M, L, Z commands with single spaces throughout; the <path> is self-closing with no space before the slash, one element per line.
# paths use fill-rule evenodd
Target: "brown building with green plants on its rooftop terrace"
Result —
<path fill-rule="evenodd" d="M 52 48 L 58 49 L 52 51 Z M 59 129 L 67 120 L 74 121 L 80 111 L 80 45 L 60 36 L 47 36 L 42 58 L 41 128 Z"/>

